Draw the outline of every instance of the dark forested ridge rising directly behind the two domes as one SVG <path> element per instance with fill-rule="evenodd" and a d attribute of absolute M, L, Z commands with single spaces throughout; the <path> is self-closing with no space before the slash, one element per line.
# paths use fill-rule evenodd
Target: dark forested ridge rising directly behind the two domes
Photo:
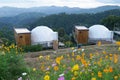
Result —
<path fill-rule="evenodd" d="M 65 32 L 71 33 L 71 29 L 73 29 L 75 25 L 90 27 L 95 24 L 100 24 L 103 18 L 110 15 L 120 16 L 120 9 L 104 11 L 96 14 L 54 14 L 40 18 L 34 23 L 28 25 L 31 26 L 30 29 L 39 25 L 49 26 L 53 29 L 59 29 L 62 27 L 65 29 Z"/>

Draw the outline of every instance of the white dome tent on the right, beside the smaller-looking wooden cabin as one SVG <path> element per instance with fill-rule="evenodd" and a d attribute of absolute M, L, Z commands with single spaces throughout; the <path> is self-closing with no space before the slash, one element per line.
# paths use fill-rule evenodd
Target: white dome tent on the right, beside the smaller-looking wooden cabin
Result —
<path fill-rule="evenodd" d="M 112 41 L 113 32 L 103 25 L 93 25 L 89 28 L 89 40 Z"/>

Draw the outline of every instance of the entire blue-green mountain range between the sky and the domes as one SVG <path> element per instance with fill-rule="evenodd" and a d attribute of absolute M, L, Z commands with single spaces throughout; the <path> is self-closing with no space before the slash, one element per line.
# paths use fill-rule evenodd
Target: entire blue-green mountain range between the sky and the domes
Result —
<path fill-rule="evenodd" d="M 33 7 L 33 8 L 0 8 L 0 37 L 14 40 L 13 27 L 33 29 L 39 25 L 52 29 L 63 28 L 71 33 L 74 25 L 87 27 L 100 24 L 103 18 L 110 15 L 120 16 L 120 6 L 102 6 L 98 8 L 81 9 L 69 7 Z"/>

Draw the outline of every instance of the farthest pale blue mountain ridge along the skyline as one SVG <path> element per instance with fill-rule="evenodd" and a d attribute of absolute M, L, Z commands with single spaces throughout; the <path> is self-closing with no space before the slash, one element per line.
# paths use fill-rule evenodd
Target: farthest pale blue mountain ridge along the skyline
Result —
<path fill-rule="evenodd" d="M 69 8 L 69 7 L 57 7 L 57 6 L 49 6 L 49 7 L 32 7 L 32 8 L 15 8 L 15 7 L 2 7 L 0 8 L 0 17 L 10 17 L 16 16 L 21 13 L 29 13 L 29 12 L 39 12 L 44 14 L 58 14 L 58 13 L 98 13 L 111 9 L 120 9 L 120 6 L 102 6 L 97 8 L 83 9 L 83 8 Z"/>

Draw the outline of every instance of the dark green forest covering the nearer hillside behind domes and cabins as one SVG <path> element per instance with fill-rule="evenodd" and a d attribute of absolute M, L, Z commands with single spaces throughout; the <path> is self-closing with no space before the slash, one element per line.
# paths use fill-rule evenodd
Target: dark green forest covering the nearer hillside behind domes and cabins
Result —
<path fill-rule="evenodd" d="M 20 17 L 22 18 L 22 17 Z M 90 27 L 95 24 L 105 25 L 110 30 L 117 29 L 120 27 L 120 9 L 114 9 L 99 13 L 84 13 L 84 14 L 52 14 L 43 16 L 35 19 L 25 19 L 24 24 L 3 24 L 0 23 L 0 38 L 4 42 L 14 42 L 14 27 L 26 27 L 32 30 L 36 26 L 44 25 L 52 28 L 59 33 L 59 40 L 62 42 L 71 41 L 72 30 L 75 25 Z M 16 22 L 15 22 L 16 23 Z"/>

